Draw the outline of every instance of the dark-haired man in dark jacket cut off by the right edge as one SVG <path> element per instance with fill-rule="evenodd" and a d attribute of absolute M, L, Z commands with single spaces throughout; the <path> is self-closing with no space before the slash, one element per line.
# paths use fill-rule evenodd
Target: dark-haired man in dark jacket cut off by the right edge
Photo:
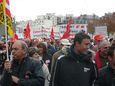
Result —
<path fill-rule="evenodd" d="M 108 50 L 109 65 L 99 71 L 99 78 L 96 86 L 115 86 L 115 46 Z"/>

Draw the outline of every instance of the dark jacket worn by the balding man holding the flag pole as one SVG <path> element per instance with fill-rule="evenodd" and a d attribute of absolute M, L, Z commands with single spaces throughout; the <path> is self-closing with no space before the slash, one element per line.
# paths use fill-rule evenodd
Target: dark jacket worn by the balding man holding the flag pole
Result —
<path fill-rule="evenodd" d="M 12 82 L 11 75 L 17 76 L 18 84 Z M 11 71 L 4 71 L 1 86 L 44 86 L 42 66 L 39 61 L 25 57 L 22 63 L 14 60 Z"/>

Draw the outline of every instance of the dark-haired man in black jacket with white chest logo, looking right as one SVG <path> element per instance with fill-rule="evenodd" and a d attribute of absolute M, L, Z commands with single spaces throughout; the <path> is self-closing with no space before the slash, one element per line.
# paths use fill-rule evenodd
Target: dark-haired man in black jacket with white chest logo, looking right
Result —
<path fill-rule="evenodd" d="M 50 86 L 93 86 L 97 70 L 88 51 L 89 44 L 87 34 L 75 35 L 68 55 L 60 56 L 55 64 Z"/>

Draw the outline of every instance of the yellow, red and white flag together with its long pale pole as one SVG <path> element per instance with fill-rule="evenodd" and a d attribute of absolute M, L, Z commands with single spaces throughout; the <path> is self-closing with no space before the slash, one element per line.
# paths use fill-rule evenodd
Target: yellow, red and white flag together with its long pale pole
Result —
<path fill-rule="evenodd" d="M 5 26 L 5 42 L 6 42 L 6 51 L 7 51 L 7 60 L 9 60 L 8 52 L 8 35 L 12 38 L 14 32 L 12 29 L 12 18 L 9 7 L 9 0 L 0 0 L 0 24 Z"/>

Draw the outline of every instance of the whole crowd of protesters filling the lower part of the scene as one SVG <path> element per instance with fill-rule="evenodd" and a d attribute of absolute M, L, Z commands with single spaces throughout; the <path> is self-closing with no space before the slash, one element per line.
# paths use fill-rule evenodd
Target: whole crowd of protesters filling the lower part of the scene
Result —
<path fill-rule="evenodd" d="M 115 37 L 0 41 L 0 86 L 115 86 Z"/>

